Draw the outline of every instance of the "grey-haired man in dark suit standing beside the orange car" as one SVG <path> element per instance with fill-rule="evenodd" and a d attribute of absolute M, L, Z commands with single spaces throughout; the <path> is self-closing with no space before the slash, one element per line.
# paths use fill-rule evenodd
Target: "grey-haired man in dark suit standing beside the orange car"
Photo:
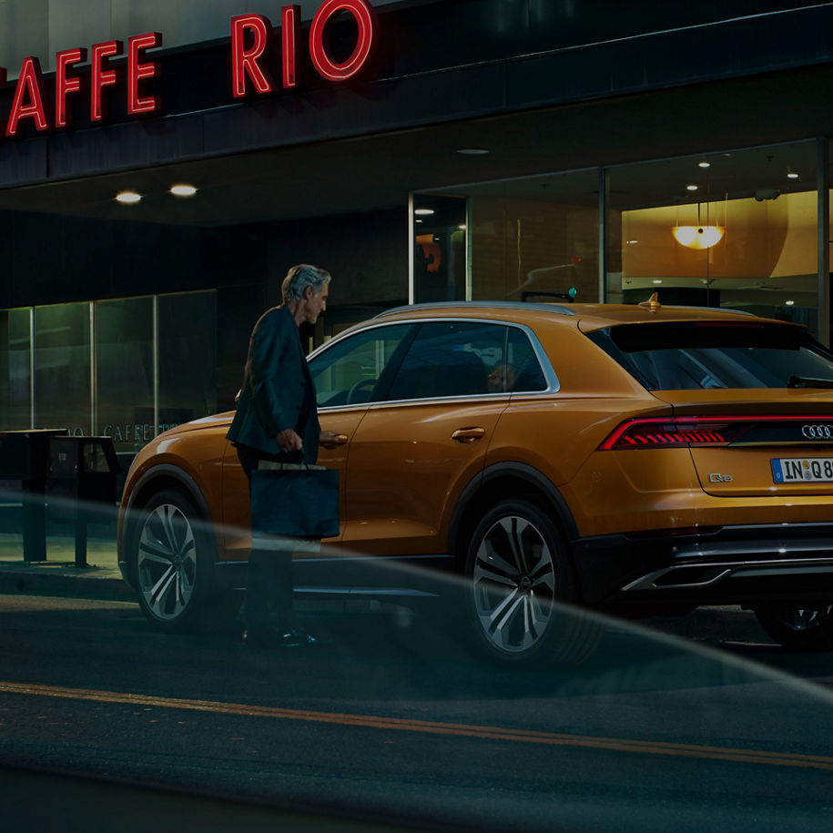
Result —
<path fill-rule="evenodd" d="M 327 308 L 330 272 L 309 264 L 293 266 L 284 279 L 283 303 L 255 324 L 237 413 L 229 440 L 249 477 L 261 460 L 312 464 L 318 446 L 332 448 L 333 432 L 321 432 L 300 326 L 314 324 Z M 261 550 L 249 555 L 243 640 L 247 645 L 311 645 L 294 621 L 292 556 Z M 274 622 L 272 620 L 275 620 Z"/>

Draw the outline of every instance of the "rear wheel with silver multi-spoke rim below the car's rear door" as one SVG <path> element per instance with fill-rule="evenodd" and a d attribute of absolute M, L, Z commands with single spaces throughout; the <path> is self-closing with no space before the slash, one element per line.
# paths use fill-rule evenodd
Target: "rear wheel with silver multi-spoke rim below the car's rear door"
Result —
<path fill-rule="evenodd" d="M 497 503 L 477 524 L 466 558 L 465 604 L 476 650 L 517 668 L 579 665 L 604 635 L 575 597 L 564 538 L 536 504 Z"/>

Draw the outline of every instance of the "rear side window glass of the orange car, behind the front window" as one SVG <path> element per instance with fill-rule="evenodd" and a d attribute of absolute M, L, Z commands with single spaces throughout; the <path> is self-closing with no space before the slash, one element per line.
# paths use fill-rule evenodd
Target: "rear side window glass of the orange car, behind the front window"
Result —
<path fill-rule="evenodd" d="M 541 391 L 546 382 L 522 330 L 479 321 L 431 321 L 408 349 L 389 400 Z"/>

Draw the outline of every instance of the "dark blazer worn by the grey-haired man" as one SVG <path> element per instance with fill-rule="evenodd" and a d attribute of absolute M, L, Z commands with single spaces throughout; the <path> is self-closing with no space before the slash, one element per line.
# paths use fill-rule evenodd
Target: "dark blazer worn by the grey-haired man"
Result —
<path fill-rule="evenodd" d="M 237 413 L 226 435 L 269 455 L 280 454 L 279 432 L 291 428 L 303 442 L 304 461 L 318 458 L 320 424 L 300 333 L 286 307 L 267 310 L 249 340 Z"/>

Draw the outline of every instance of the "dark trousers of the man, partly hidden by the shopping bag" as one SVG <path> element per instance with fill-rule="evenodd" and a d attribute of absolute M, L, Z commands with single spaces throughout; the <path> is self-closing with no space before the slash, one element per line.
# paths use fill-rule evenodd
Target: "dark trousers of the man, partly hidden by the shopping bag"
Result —
<path fill-rule="evenodd" d="M 237 447 L 240 465 L 249 478 L 261 460 L 277 460 L 275 457 L 247 445 Z M 276 631 L 286 633 L 295 625 L 294 581 L 292 554 L 259 549 L 252 539 L 249 554 L 249 576 L 246 581 L 246 602 L 243 621 L 251 631 Z"/>

